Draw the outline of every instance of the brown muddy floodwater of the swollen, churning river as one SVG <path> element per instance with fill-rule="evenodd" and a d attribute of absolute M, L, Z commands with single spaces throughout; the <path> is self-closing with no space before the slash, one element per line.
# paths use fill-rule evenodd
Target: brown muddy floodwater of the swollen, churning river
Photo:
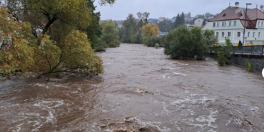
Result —
<path fill-rule="evenodd" d="M 101 76 L 2 81 L 0 131 L 264 131 L 261 73 L 144 45 L 98 55 Z"/>

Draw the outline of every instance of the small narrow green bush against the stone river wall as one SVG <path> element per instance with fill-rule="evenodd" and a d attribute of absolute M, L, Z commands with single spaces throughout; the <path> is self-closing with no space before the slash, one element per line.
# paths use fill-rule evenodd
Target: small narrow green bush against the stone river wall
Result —
<path fill-rule="evenodd" d="M 231 54 L 232 43 L 230 39 L 225 39 L 225 45 L 222 45 L 221 49 L 217 51 L 217 63 L 219 65 L 227 65 L 231 63 L 231 59 L 234 54 Z"/>

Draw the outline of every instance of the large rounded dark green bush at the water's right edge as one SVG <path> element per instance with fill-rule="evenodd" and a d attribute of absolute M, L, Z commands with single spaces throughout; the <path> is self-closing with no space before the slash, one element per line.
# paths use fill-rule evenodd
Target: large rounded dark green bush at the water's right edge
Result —
<path fill-rule="evenodd" d="M 210 30 L 203 31 L 199 27 L 189 30 L 185 25 L 170 32 L 164 40 L 164 53 L 171 58 L 194 58 L 203 60 L 208 47 L 217 39 Z"/>

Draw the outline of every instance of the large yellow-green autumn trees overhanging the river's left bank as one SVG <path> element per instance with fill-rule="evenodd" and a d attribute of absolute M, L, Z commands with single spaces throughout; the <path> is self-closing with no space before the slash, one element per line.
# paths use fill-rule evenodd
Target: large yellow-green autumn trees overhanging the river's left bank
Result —
<path fill-rule="evenodd" d="M 100 0 L 113 4 L 115 0 Z M 104 34 L 93 0 L 5 0 L 0 7 L 0 74 L 103 74 L 92 47 Z M 82 12 L 80 12 L 82 10 Z"/>

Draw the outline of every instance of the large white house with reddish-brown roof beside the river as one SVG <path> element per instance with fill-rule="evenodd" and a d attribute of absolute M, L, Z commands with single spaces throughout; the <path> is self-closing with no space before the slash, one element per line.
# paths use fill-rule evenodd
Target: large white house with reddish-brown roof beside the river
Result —
<path fill-rule="evenodd" d="M 245 28 L 245 32 L 244 31 Z M 263 45 L 264 41 L 264 13 L 263 5 L 258 8 L 240 8 L 239 2 L 229 6 L 216 17 L 208 21 L 203 30 L 214 30 L 219 43 L 225 43 L 229 38 L 233 46 Z M 243 42 L 244 40 L 244 42 Z"/>

